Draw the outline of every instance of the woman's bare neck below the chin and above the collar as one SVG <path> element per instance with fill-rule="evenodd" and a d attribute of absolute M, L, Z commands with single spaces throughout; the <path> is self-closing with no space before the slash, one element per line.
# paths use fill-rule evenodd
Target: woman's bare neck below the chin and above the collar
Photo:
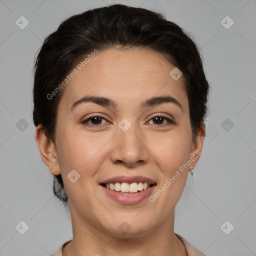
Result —
<path fill-rule="evenodd" d="M 182 241 L 173 232 L 174 212 L 168 222 L 136 236 L 119 237 L 93 225 L 71 211 L 73 239 L 64 247 L 63 256 L 187 256 Z M 83 223 L 81 225 L 81 223 Z"/>

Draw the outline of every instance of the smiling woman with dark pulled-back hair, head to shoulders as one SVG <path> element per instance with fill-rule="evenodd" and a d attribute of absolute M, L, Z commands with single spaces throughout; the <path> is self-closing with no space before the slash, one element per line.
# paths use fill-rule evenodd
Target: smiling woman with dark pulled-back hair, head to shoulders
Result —
<path fill-rule="evenodd" d="M 36 142 L 73 229 L 52 255 L 204 255 L 173 226 L 200 156 L 208 87 L 193 40 L 147 9 L 88 10 L 44 40 Z"/>

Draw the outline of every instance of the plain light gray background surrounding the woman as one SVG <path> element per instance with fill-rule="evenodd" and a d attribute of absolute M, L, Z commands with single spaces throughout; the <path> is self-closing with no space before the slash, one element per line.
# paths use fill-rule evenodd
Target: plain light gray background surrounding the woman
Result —
<path fill-rule="evenodd" d="M 0 255 L 49 255 L 72 238 L 69 211 L 53 196 L 34 138 L 32 64 L 61 21 L 113 2 L 163 12 L 203 54 L 211 85 L 206 137 L 174 231 L 208 256 L 256 255 L 255 0 L 0 0 Z M 15 24 L 21 15 L 24 29 Z M 229 29 L 220 23 L 226 15 Z M 15 228 L 21 220 L 24 234 Z M 226 220 L 229 234 L 220 228 Z"/>

